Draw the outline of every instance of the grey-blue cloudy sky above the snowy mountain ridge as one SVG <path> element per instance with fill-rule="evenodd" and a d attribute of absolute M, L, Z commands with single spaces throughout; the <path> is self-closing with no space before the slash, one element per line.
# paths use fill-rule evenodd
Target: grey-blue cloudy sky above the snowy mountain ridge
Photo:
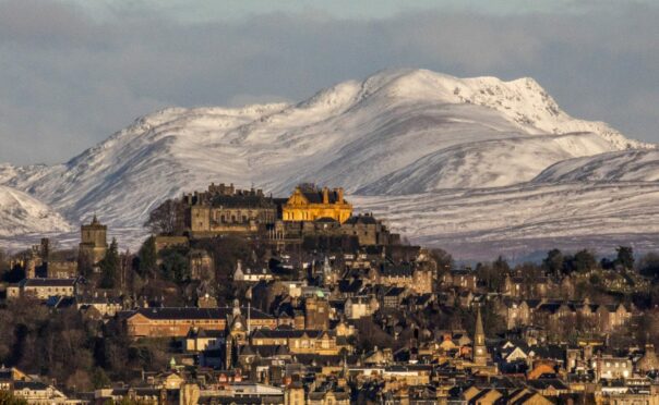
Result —
<path fill-rule="evenodd" d="M 655 0 L 0 0 L 0 164 L 64 162 L 165 107 L 297 102 L 383 69 L 537 79 L 659 143 Z"/>

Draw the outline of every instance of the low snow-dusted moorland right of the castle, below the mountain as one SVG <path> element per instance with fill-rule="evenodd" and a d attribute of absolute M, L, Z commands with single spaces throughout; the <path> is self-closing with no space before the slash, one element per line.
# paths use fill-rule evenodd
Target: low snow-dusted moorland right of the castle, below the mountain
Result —
<path fill-rule="evenodd" d="M 524 184 L 404 196 L 352 196 L 361 211 L 386 218 L 411 242 L 464 256 L 492 257 L 564 246 L 646 241 L 659 248 L 659 183 Z M 604 237 L 604 235 L 607 237 Z M 575 245 L 574 241 L 579 241 Z"/>

